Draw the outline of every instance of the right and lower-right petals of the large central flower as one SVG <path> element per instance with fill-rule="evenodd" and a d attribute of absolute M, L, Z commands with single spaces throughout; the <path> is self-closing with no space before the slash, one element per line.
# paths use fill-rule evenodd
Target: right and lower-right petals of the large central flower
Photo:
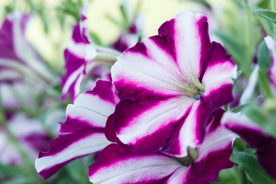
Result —
<path fill-rule="evenodd" d="M 164 148 L 163 153 L 177 157 L 187 156 L 188 146 L 195 148 L 203 140 L 205 125 L 216 108 L 233 100 L 232 78 L 237 77 L 237 65 L 226 54 L 221 44 L 213 42 L 212 45 L 211 60 L 202 79 L 206 86 L 205 91 L 180 129 L 176 143 Z"/>

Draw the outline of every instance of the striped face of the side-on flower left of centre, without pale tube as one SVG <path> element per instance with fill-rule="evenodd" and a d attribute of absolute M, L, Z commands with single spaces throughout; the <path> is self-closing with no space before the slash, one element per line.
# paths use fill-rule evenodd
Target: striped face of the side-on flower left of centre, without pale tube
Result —
<path fill-rule="evenodd" d="M 64 51 L 65 69 L 67 71 L 61 82 L 62 100 L 65 100 L 70 94 L 71 101 L 75 101 L 81 92 L 84 76 L 87 74 L 87 64 L 97 56 L 94 45 L 88 40 L 86 13 L 89 5 L 89 3 L 84 3 L 80 8 L 81 20 L 74 26 L 71 43 Z"/>

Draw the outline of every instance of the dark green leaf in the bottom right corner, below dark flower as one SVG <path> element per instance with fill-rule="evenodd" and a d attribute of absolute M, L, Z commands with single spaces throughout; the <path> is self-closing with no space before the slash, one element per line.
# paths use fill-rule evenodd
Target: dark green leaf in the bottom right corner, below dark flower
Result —
<path fill-rule="evenodd" d="M 254 156 L 245 153 L 237 152 L 230 157 L 232 162 L 235 162 L 243 168 L 248 177 L 256 184 L 276 183 L 264 170 L 258 165 Z"/>

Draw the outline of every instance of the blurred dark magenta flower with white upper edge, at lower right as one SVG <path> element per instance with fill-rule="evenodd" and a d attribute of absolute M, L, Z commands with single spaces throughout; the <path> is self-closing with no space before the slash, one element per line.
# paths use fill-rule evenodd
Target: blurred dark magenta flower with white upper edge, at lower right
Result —
<path fill-rule="evenodd" d="M 259 164 L 276 180 L 276 138 L 264 132 L 245 114 L 226 112 L 221 123 L 237 133 L 249 147 L 256 149 Z"/>

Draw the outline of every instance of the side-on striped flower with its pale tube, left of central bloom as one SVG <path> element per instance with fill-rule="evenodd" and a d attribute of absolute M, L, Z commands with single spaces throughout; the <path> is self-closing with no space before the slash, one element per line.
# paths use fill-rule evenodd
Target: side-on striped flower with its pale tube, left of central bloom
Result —
<path fill-rule="evenodd" d="M 94 67 L 101 66 L 105 70 L 110 69 L 114 64 L 115 56 L 120 53 L 112 49 L 97 46 L 89 40 L 89 31 L 86 25 L 86 14 L 89 3 L 79 9 L 81 20 L 73 27 L 73 35 L 70 45 L 64 51 L 65 69 L 67 70 L 62 77 L 62 100 L 70 94 L 71 101 L 74 102 L 81 92 L 83 79 Z M 109 72 L 110 73 L 110 72 Z M 97 79 L 106 79 L 105 74 Z M 97 80 L 95 79 L 95 80 Z"/>

